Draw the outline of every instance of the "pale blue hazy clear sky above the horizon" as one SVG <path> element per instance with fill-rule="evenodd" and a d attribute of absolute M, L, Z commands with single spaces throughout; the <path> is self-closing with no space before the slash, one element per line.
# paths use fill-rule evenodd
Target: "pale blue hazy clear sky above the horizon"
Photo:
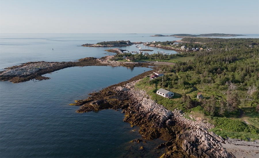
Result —
<path fill-rule="evenodd" d="M 259 33 L 258 0 L 0 0 L 0 33 Z"/>

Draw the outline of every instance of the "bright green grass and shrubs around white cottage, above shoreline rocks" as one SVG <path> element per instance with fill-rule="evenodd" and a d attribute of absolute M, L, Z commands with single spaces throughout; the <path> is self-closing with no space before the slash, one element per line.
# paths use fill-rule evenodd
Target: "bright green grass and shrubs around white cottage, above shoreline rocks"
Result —
<path fill-rule="evenodd" d="M 175 74 L 181 78 L 181 73 Z M 191 74 L 190 74 L 191 75 Z M 198 84 L 196 87 L 192 88 L 165 88 L 171 92 L 174 92 L 175 96 L 172 99 L 167 99 L 165 97 L 156 95 L 156 91 L 162 88 L 158 84 L 150 84 L 149 77 L 143 78 L 135 86 L 136 88 L 145 90 L 152 100 L 156 101 L 158 104 L 165 106 L 169 110 L 174 110 L 176 108 L 182 109 L 186 113 L 186 118 L 190 114 L 195 117 L 200 117 L 202 120 L 206 120 L 214 124 L 216 127 L 211 129 L 211 131 L 216 134 L 226 138 L 239 138 L 242 140 L 258 140 L 259 134 L 257 133 L 259 129 L 259 116 L 258 113 L 252 111 L 252 108 L 247 106 L 239 107 L 243 110 L 241 115 L 239 111 L 231 114 L 228 118 L 226 117 L 210 117 L 205 114 L 205 111 L 201 106 L 194 107 L 192 109 L 186 109 L 184 104 L 181 102 L 182 95 L 186 94 L 192 99 L 195 99 L 198 92 L 202 92 L 204 98 L 210 98 L 212 95 L 217 98 L 225 97 L 221 92 L 225 90 L 227 86 L 214 87 L 213 84 Z"/>

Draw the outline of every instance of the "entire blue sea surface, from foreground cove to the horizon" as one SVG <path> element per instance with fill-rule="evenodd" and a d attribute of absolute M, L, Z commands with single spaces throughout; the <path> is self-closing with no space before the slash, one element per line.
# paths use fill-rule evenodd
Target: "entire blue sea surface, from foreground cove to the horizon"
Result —
<path fill-rule="evenodd" d="M 107 48 L 81 47 L 100 41 L 174 41 L 153 34 L 0 34 L 0 70 L 28 61 L 74 61 L 102 57 Z M 240 36 L 238 36 L 240 37 Z M 244 36 L 248 38 L 249 36 Z M 252 38 L 252 37 L 251 37 Z M 53 48 L 53 50 L 52 50 Z M 162 51 L 151 47 L 154 51 Z M 122 48 L 124 49 L 124 48 Z M 126 48 L 137 50 L 135 46 Z M 142 47 L 142 49 L 149 49 Z M 159 157 L 160 139 L 146 144 L 121 111 L 76 113 L 70 106 L 88 93 L 128 80 L 151 68 L 73 67 L 18 84 L 0 82 L 0 157 Z M 135 131 L 136 130 L 136 131 Z M 144 150 L 140 150 L 144 146 Z"/>

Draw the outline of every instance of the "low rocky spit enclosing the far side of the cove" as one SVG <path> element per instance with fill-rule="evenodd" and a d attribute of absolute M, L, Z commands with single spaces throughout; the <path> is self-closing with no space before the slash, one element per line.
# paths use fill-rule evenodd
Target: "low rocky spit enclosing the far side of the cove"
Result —
<path fill-rule="evenodd" d="M 148 63 L 139 62 L 118 62 L 112 61 L 113 56 L 106 56 L 100 59 L 94 57 L 86 57 L 72 62 L 28 62 L 21 65 L 5 68 L 6 70 L 0 72 L 0 81 L 10 81 L 13 83 L 25 82 L 31 79 L 47 80 L 48 77 L 41 75 L 51 73 L 64 68 L 75 66 L 124 66 L 124 67 L 147 67 Z"/>

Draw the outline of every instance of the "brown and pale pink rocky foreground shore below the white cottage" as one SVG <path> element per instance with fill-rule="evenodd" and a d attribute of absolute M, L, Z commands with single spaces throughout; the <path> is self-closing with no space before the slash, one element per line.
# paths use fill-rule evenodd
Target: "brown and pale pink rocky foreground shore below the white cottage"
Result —
<path fill-rule="evenodd" d="M 223 138 L 208 132 L 213 125 L 188 120 L 181 111 L 167 110 L 151 100 L 143 90 L 134 88 L 138 80 L 151 73 L 152 71 L 148 71 L 97 93 L 91 93 L 87 99 L 70 105 L 80 105 L 80 109 L 76 111 L 78 113 L 122 109 L 125 113 L 124 121 L 132 126 L 139 126 L 139 132 L 144 139 L 161 138 L 167 141 L 157 147 L 165 148 L 161 157 L 235 157 L 220 144 L 224 141 Z"/>

